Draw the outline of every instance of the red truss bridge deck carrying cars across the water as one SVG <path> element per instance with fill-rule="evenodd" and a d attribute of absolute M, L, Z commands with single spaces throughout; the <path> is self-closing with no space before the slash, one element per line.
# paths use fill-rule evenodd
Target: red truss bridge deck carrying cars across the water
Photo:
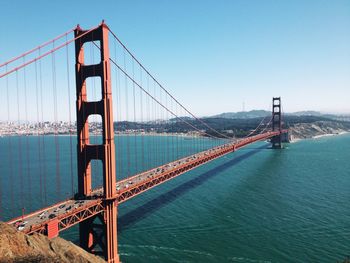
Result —
<path fill-rule="evenodd" d="M 285 130 L 282 133 L 286 132 Z M 123 203 L 161 183 L 177 177 L 211 160 L 234 152 L 251 143 L 266 140 L 279 135 L 279 131 L 269 131 L 263 134 L 241 139 L 237 142 L 227 143 L 209 150 L 199 152 L 171 163 L 156 167 L 146 172 L 134 175 L 117 182 L 118 204 Z M 65 230 L 85 219 L 103 212 L 103 189 L 98 188 L 92 192 L 91 198 L 84 200 L 69 199 L 18 217 L 9 221 L 9 224 L 18 226 L 25 233 L 39 232 L 47 234 L 50 225 L 58 227 L 58 231 Z M 23 222 L 25 224 L 23 225 Z"/>

